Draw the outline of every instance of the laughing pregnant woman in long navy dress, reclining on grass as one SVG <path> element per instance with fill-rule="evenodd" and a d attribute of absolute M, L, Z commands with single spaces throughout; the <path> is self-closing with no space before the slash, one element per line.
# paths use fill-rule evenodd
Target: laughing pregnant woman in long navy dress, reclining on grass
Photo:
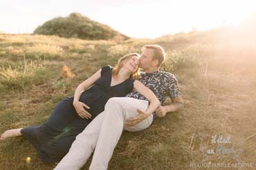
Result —
<path fill-rule="evenodd" d="M 109 98 L 123 97 L 138 85 L 139 89 L 143 86 L 147 90 L 142 83 L 134 83 L 139 56 L 127 54 L 118 60 L 116 67 L 102 67 L 78 85 L 74 96 L 61 100 L 43 125 L 10 129 L 1 134 L 0 140 L 24 136 L 44 162 L 59 162 L 68 153 L 75 136 L 104 110 Z"/>

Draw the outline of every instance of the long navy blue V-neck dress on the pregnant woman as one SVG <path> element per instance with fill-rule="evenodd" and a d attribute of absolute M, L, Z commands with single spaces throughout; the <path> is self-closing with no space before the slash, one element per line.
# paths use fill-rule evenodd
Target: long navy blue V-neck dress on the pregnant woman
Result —
<path fill-rule="evenodd" d="M 81 118 L 73 107 L 73 96 L 58 103 L 51 116 L 43 125 L 21 129 L 21 134 L 37 149 L 39 158 L 44 162 L 59 162 L 68 153 L 75 137 L 89 125 L 91 120 L 104 111 L 104 105 L 111 97 L 123 97 L 134 88 L 134 79 L 114 86 L 111 85 L 110 66 L 102 67 L 100 78 L 86 91 L 82 92 L 80 101 L 90 107 L 86 109 L 91 119 Z"/>

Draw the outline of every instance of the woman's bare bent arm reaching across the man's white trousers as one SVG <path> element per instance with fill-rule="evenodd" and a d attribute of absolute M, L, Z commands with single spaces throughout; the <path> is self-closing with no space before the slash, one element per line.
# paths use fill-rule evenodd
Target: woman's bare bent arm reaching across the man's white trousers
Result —
<path fill-rule="evenodd" d="M 137 123 L 140 123 L 140 121 L 147 118 L 150 114 L 152 114 L 157 109 L 157 107 L 161 105 L 160 101 L 158 100 L 156 95 L 151 91 L 151 89 L 143 85 L 143 83 L 140 83 L 140 81 L 137 81 L 137 80 L 134 81 L 134 91 L 137 91 L 143 96 L 145 96 L 145 98 L 149 100 L 150 104 L 149 104 L 149 107 L 147 107 L 147 110 L 145 112 L 138 109 L 138 116 L 136 116 L 136 118 L 128 119 L 127 122 L 125 123 L 125 126 L 133 126 L 133 125 L 136 125 Z"/>

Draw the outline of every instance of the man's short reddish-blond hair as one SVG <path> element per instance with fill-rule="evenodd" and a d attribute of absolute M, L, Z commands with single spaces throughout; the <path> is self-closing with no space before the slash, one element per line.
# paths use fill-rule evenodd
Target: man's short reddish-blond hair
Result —
<path fill-rule="evenodd" d="M 161 47 L 161 45 L 157 45 L 157 44 L 147 44 L 143 46 L 143 50 L 145 49 L 153 49 L 154 50 L 154 56 L 153 59 L 157 59 L 158 60 L 158 67 L 160 67 L 162 65 L 162 63 L 165 61 L 165 50 L 163 50 L 163 47 Z"/>

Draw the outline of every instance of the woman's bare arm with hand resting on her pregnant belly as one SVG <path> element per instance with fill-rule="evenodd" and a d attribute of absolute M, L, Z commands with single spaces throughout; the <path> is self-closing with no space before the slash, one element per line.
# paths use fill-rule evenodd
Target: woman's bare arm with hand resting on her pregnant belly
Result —
<path fill-rule="evenodd" d="M 79 101 L 80 96 L 82 92 L 84 92 L 84 89 L 88 89 L 89 87 L 91 87 L 91 85 L 93 85 L 95 81 L 97 81 L 98 78 L 100 78 L 100 73 L 101 69 L 95 72 L 95 74 L 93 74 L 91 77 L 87 78 L 84 82 L 80 83 L 80 85 L 78 85 L 75 89 L 73 106 L 75 107 L 77 114 L 82 118 L 91 118 L 91 114 L 89 114 L 89 112 L 84 109 L 84 107 L 86 109 L 89 109 L 89 106 Z"/>

